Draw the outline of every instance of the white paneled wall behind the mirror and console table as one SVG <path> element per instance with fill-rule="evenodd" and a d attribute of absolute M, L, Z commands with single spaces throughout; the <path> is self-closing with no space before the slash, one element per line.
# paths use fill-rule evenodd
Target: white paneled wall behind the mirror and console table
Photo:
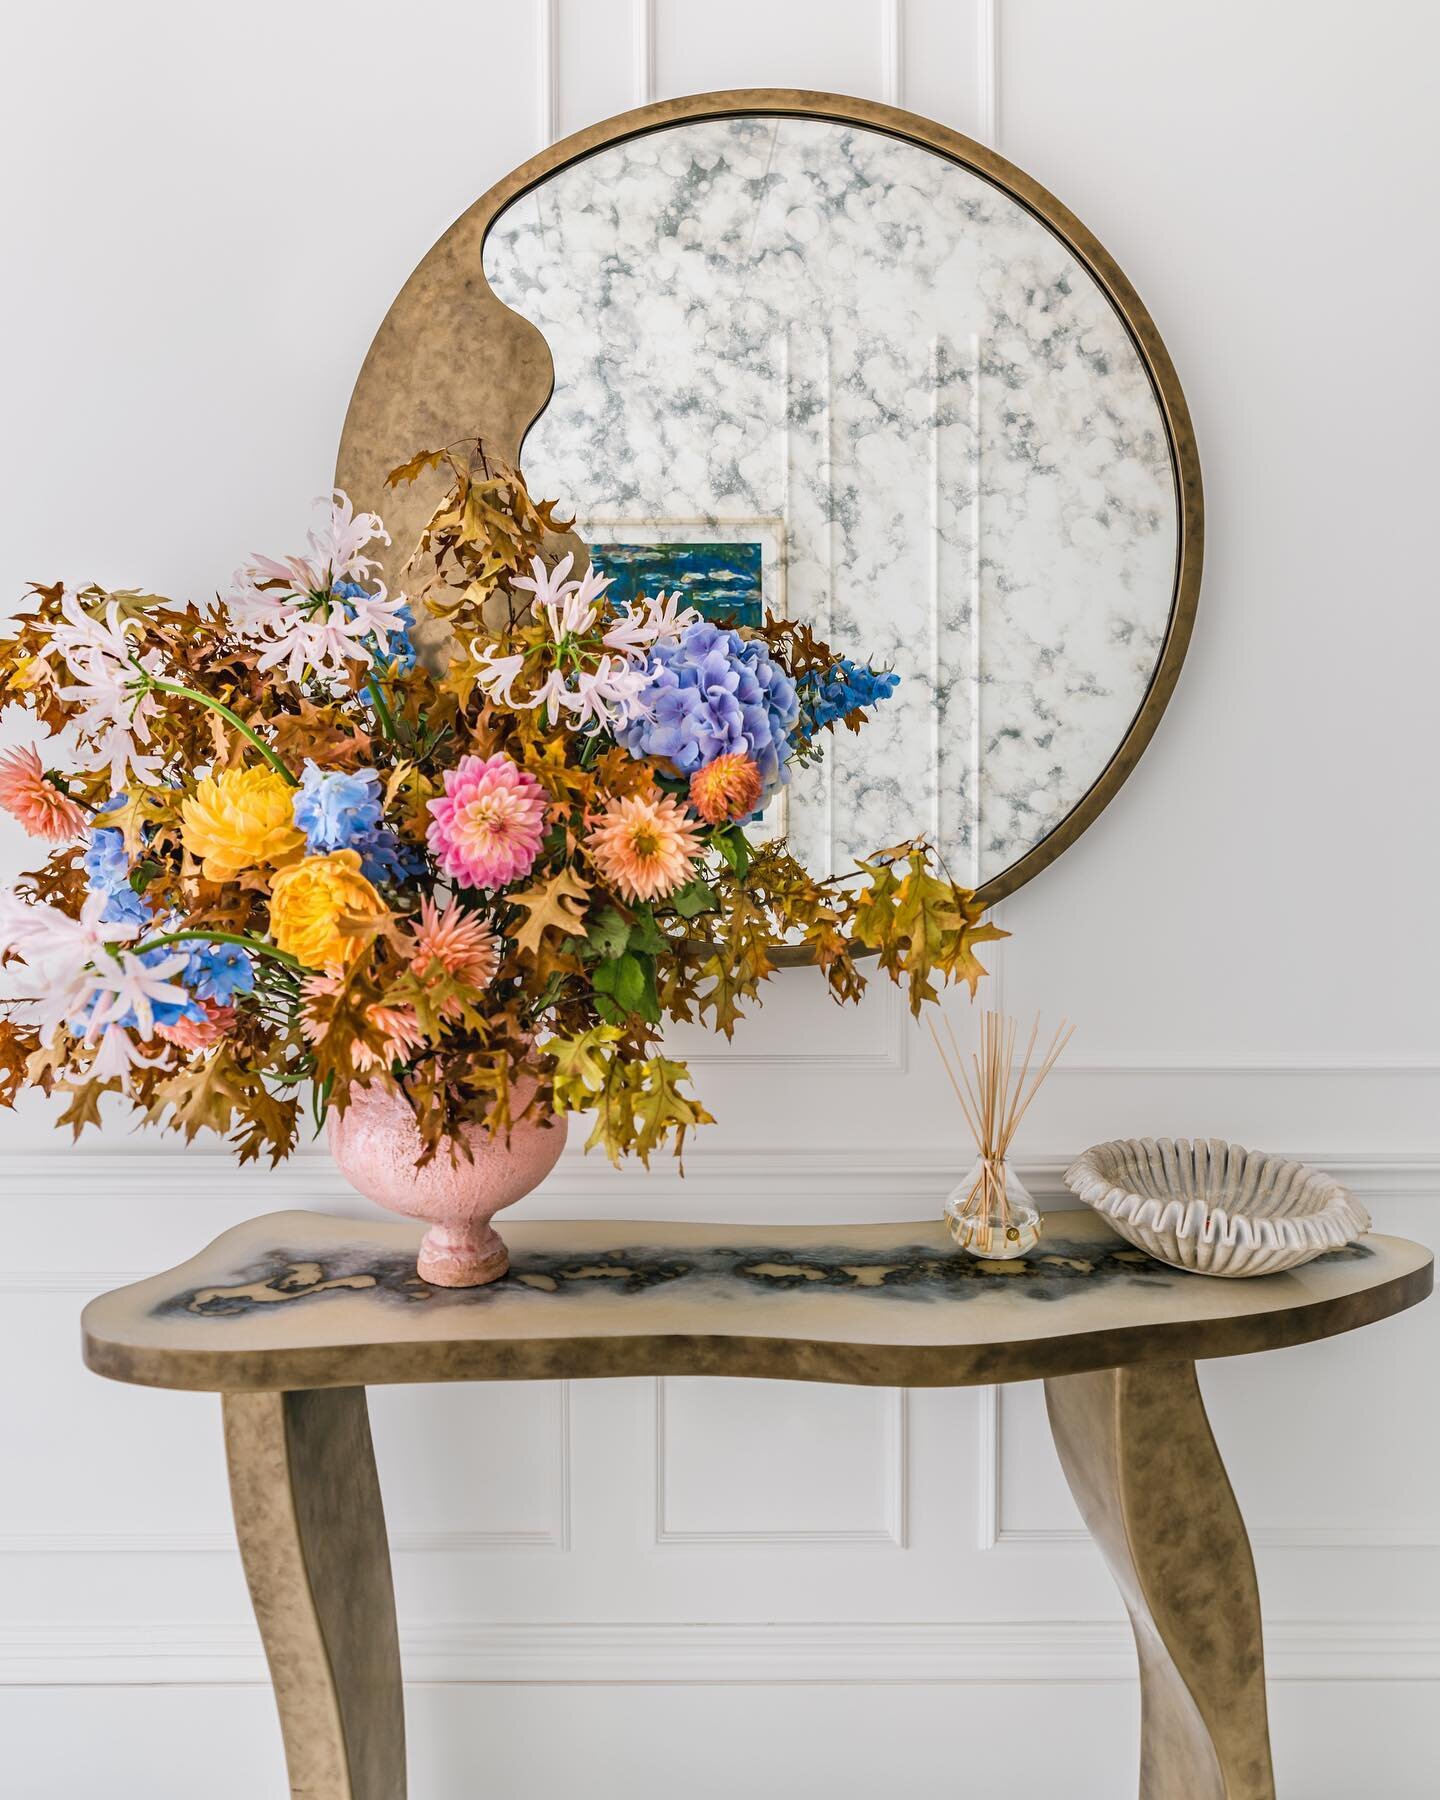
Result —
<path fill-rule="evenodd" d="M 1210 549 L 1156 743 L 1006 905 L 992 995 L 1080 1021 L 1024 1161 L 1053 1201 L 1098 1138 L 1231 1134 L 1436 1235 L 1431 9 L 83 0 L 5 36 L 5 594 L 207 592 L 290 544 L 421 252 L 639 101 L 848 90 L 1053 187 L 1170 344 Z M 689 1042 L 720 1125 L 688 1179 L 567 1157 L 533 1210 L 918 1217 L 954 1179 L 889 995 L 787 974 L 734 1048 Z M 290 1204 L 364 1210 L 315 1150 L 257 1175 L 0 1118 L 5 1795 L 283 1793 L 216 1408 L 86 1375 L 76 1318 Z M 1440 1789 L 1436 1348 L 1431 1307 L 1204 1370 L 1294 1800 Z M 396 1390 L 374 1426 L 418 1800 L 1132 1791 L 1127 1629 L 1031 1388 Z"/>

